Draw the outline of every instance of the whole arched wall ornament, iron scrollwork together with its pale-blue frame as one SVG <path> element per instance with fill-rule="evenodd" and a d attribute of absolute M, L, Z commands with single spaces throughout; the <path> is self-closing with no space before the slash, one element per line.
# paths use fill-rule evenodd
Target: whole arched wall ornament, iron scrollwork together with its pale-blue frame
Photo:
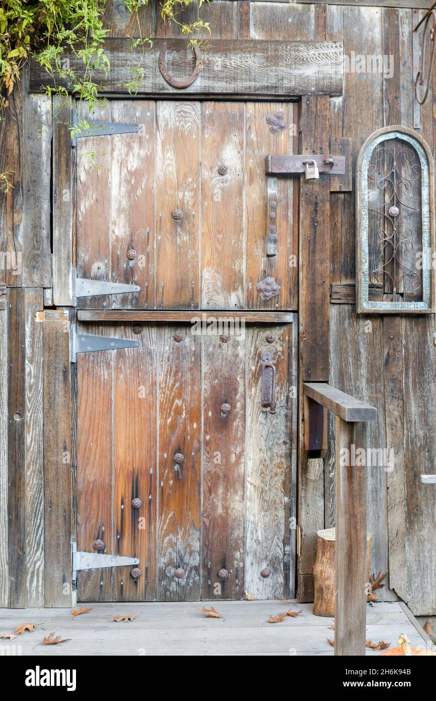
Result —
<path fill-rule="evenodd" d="M 367 139 L 356 175 L 358 312 L 434 311 L 433 156 L 416 132 Z"/>

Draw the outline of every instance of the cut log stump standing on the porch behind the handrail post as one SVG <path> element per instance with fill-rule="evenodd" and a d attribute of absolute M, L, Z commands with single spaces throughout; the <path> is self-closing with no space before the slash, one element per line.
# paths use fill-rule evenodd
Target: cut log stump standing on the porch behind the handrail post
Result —
<path fill-rule="evenodd" d="M 314 615 L 335 616 L 335 529 L 316 533 L 317 548 L 314 564 Z M 370 580 L 372 533 L 367 533 L 366 572 Z"/>

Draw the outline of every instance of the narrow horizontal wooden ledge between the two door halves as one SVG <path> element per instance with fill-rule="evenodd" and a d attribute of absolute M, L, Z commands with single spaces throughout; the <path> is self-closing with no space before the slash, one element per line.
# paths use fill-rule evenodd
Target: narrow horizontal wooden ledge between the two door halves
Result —
<path fill-rule="evenodd" d="M 290 324 L 294 314 L 289 311 L 141 311 L 115 309 L 80 309 L 77 313 L 80 321 L 178 321 L 192 322 L 199 325 L 218 323 L 219 320 L 258 321 L 262 324 Z"/>

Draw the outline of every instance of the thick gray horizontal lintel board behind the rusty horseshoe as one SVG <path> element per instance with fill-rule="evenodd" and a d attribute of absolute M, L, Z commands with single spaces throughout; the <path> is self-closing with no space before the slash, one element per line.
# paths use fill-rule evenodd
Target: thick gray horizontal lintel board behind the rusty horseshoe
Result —
<path fill-rule="evenodd" d="M 195 67 L 195 55 L 183 39 L 154 39 L 153 47 L 132 48 L 124 38 L 106 39 L 104 52 L 111 62 L 106 76 L 96 70 L 93 80 L 103 86 L 102 93 L 127 93 L 125 83 L 132 80 L 134 68 L 141 62 L 143 79 L 137 95 L 268 95 L 300 97 L 300 95 L 342 95 L 344 83 L 344 49 L 342 41 L 232 41 L 211 39 L 203 50 L 203 67 L 188 88 L 172 88 L 159 69 L 159 56 L 167 43 L 167 70 L 176 80 L 187 79 Z M 84 77 L 83 61 L 65 54 L 77 78 Z M 71 92 L 65 79 L 58 86 Z M 35 59 L 30 64 L 30 90 L 54 86 L 55 81 Z"/>

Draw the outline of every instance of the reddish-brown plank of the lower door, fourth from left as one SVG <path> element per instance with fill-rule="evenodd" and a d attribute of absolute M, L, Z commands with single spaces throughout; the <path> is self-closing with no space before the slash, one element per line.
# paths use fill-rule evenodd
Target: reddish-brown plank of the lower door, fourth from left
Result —
<path fill-rule="evenodd" d="M 240 599 L 244 590 L 245 343 L 203 337 L 202 598 Z M 260 360 L 257 360 L 260 362 Z M 230 404 L 227 414 L 222 404 Z M 220 570 L 227 578 L 219 578 Z"/>

